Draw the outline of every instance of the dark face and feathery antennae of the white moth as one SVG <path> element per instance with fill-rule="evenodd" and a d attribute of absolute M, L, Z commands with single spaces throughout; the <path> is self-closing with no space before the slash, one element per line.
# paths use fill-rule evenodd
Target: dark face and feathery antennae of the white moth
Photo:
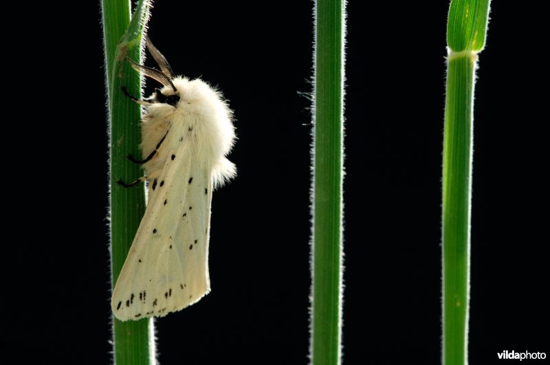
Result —
<path fill-rule="evenodd" d="M 131 58 L 129 58 L 130 64 L 136 71 L 141 71 L 142 74 L 144 74 L 145 76 L 152 78 L 153 80 L 157 80 L 162 85 L 164 85 L 163 90 L 155 89 L 153 96 L 148 99 L 149 102 L 162 102 L 163 104 L 169 104 L 173 107 L 176 107 L 177 102 L 179 102 L 179 91 L 176 89 L 174 83 L 172 82 L 172 80 L 174 79 L 172 67 L 170 67 L 170 64 L 168 64 L 166 57 L 164 57 L 164 55 L 159 52 L 155 45 L 151 43 L 151 39 L 149 39 L 149 36 L 146 36 L 145 40 L 147 49 L 159 65 L 160 70 L 154 69 L 153 67 L 140 65 Z M 162 91 L 164 91 L 164 93 Z"/>

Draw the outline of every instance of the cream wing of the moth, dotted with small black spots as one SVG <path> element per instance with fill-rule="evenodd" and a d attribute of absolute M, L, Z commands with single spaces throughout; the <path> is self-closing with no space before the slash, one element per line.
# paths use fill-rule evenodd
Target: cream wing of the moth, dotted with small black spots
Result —
<path fill-rule="evenodd" d="M 199 162 L 183 126 L 173 125 L 164 142 L 166 164 L 113 290 L 119 320 L 166 316 L 210 291 L 212 167 Z"/>

